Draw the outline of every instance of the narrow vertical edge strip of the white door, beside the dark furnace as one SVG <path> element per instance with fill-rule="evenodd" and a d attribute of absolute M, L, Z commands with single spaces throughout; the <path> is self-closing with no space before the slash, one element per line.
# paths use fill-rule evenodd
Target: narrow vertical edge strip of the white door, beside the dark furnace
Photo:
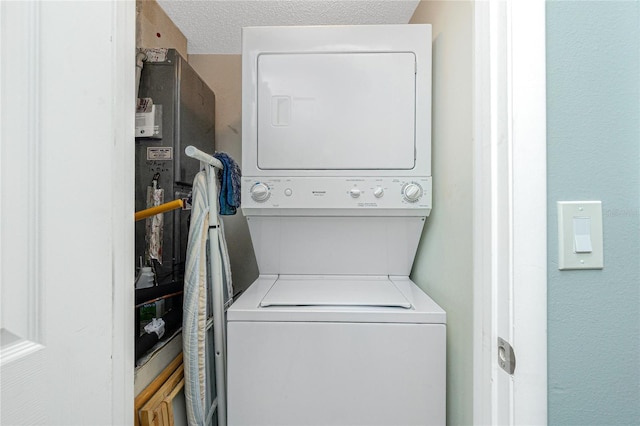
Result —
<path fill-rule="evenodd" d="M 112 414 L 114 424 L 133 422 L 134 377 L 134 170 L 136 2 L 112 2 Z"/>

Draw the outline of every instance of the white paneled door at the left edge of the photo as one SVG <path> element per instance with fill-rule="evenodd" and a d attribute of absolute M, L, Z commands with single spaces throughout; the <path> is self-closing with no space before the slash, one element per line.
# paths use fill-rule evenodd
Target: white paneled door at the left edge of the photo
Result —
<path fill-rule="evenodd" d="M 134 2 L 0 3 L 0 423 L 131 424 Z"/>

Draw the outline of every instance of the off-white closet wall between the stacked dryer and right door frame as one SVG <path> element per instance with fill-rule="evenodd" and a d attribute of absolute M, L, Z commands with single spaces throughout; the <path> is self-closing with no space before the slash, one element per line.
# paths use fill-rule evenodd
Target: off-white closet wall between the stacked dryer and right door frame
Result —
<path fill-rule="evenodd" d="M 447 423 L 472 424 L 473 3 L 421 1 L 433 25 L 433 211 L 411 278 L 447 312 Z"/>

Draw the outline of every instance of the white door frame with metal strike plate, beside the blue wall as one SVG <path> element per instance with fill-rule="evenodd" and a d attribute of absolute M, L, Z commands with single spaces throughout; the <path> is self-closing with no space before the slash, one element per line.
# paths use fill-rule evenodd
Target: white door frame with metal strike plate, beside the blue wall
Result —
<path fill-rule="evenodd" d="M 476 1 L 474 23 L 474 424 L 546 424 L 545 3 Z"/>

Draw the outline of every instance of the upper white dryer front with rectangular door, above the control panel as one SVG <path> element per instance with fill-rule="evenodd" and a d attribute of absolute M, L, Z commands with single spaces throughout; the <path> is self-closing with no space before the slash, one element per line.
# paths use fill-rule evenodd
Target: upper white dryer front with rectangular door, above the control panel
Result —
<path fill-rule="evenodd" d="M 431 176 L 429 25 L 245 28 L 242 43 L 244 176 Z"/>

